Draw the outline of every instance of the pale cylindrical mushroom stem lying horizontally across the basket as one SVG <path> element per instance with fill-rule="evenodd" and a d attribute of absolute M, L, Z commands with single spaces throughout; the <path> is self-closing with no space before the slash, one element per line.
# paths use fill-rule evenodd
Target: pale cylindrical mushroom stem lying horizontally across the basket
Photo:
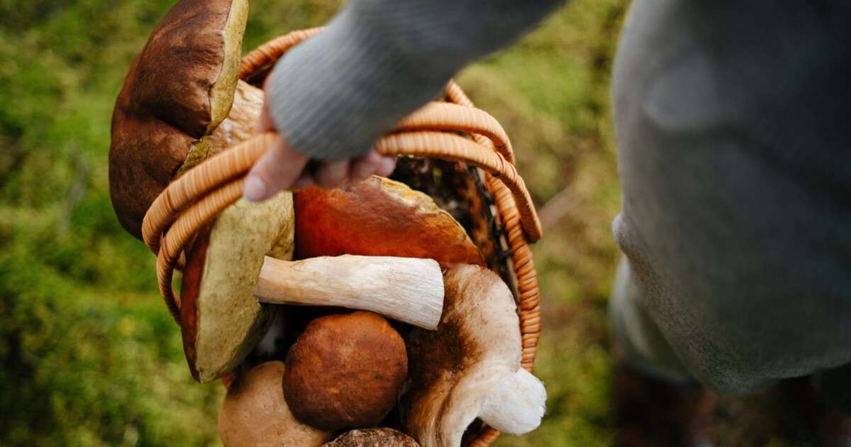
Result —
<path fill-rule="evenodd" d="M 266 256 L 254 295 L 274 304 L 372 311 L 435 330 L 443 312 L 443 273 L 431 259 L 341 255 L 280 261 Z"/>

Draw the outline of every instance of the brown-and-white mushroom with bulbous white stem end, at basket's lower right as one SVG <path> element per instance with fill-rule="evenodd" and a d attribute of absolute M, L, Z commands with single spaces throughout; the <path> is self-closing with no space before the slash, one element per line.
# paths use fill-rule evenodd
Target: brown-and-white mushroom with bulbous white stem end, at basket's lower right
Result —
<path fill-rule="evenodd" d="M 408 335 L 411 388 L 403 396 L 403 427 L 423 447 L 458 446 L 477 417 L 523 434 L 540 425 L 546 391 L 520 368 L 521 338 L 511 291 L 480 266 L 444 276 L 437 331 Z"/>

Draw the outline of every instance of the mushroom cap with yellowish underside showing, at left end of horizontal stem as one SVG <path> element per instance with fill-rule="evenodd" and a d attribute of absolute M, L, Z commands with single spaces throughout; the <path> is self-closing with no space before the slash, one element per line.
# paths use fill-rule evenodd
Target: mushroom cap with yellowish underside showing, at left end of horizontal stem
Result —
<path fill-rule="evenodd" d="M 291 255 L 292 194 L 225 209 L 186 255 L 180 330 L 186 363 L 197 381 L 236 369 L 271 324 L 271 305 L 254 296 L 266 255 Z M 289 248 L 289 249 L 288 249 Z"/>

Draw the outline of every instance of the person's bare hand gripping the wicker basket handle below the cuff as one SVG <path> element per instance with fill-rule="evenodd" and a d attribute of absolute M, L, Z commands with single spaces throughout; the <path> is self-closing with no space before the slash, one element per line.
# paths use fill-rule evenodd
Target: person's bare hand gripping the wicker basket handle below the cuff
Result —
<path fill-rule="evenodd" d="M 258 132 L 273 131 L 276 131 L 275 123 L 271 119 L 267 101 L 260 113 Z M 311 165 L 308 162 L 310 158 L 289 146 L 283 136 L 278 138 L 248 171 L 243 198 L 250 202 L 260 202 L 278 191 L 296 191 L 312 184 L 324 188 L 345 187 L 366 180 L 370 175 L 390 175 L 396 167 L 396 158 L 384 157 L 375 151 L 358 158 L 321 160 Z"/>

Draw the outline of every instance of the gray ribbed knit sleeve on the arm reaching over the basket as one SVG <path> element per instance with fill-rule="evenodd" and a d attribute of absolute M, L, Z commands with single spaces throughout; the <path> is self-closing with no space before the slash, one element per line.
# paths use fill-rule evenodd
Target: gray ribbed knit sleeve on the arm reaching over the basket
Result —
<path fill-rule="evenodd" d="M 277 129 L 311 158 L 363 155 L 462 66 L 563 0 L 351 0 L 292 49 L 266 92 Z"/>

